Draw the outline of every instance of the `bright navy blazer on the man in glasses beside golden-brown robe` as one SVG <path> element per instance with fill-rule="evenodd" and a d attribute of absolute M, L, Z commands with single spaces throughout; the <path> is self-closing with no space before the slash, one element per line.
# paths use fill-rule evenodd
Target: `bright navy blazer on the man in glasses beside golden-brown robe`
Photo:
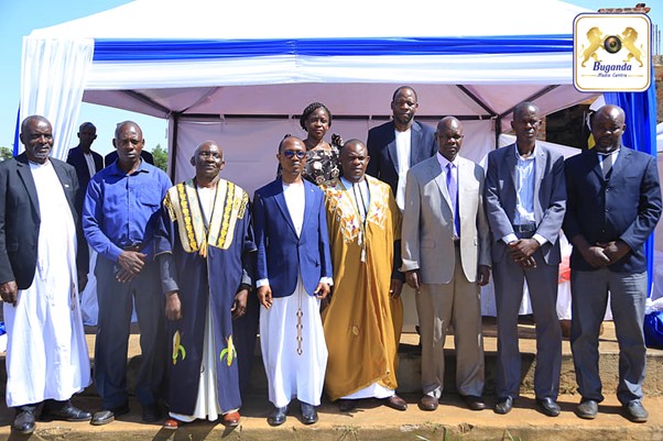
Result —
<path fill-rule="evenodd" d="M 292 295 L 300 274 L 308 295 L 314 294 L 322 277 L 332 277 L 325 195 L 305 179 L 304 188 L 304 223 L 298 238 L 280 177 L 256 190 L 253 198 L 256 279 L 269 278 L 273 297 Z"/>

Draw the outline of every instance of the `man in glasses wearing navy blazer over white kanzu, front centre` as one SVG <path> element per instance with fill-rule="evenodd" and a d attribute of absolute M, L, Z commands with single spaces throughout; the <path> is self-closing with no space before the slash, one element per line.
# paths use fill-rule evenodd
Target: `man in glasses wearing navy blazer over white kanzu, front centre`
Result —
<path fill-rule="evenodd" d="M 327 365 L 319 304 L 332 285 L 325 194 L 302 179 L 302 140 L 283 139 L 276 157 L 281 176 L 253 198 L 260 346 L 274 406 L 268 422 L 285 422 L 290 401 L 297 398 L 302 421 L 313 425 Z"/>

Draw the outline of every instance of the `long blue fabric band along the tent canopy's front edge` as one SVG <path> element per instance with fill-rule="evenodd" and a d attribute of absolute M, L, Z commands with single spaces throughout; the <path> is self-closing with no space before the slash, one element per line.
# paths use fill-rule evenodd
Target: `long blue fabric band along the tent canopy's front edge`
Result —
<path fill-rule="evenodd" d="M 274 55 L 378 56 L 572 53 L 573 35 L 411 38 L 95 40 L 95 62 Z"/>

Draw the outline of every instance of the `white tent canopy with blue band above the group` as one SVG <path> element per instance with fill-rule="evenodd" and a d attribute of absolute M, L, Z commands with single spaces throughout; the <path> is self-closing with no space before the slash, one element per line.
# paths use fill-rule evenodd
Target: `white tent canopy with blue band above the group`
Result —
<path fill-rule="evenodd" d="M 25 37 L 21 118 L 54 122 L 58 157 L 81 99 L 167 118 L 176 180 L 215 139 L 225 176 L 252 191 L 273 177 L 283 134 L 303 134 L 309 102 L 332 110 L 330 132 L 366 140 L 407 84 L 420 120 L 465 120 L 464 153 L 479 161 L 518 102 L 550 113 L 590 97 L 573 87 L 580 12 L 555 0 L 138 0 Z"/>

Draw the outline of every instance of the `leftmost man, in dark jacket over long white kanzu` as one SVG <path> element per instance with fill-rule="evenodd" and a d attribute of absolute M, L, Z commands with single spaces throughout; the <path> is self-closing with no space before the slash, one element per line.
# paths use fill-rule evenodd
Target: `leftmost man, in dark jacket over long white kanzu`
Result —
<path fill-rule="evenodd" d="M 25 153 L 0 163 L 0 295 L 8 333 L 7 406 L 13 430 L 32 433 L 43 420 L 88 421 L 72 405 L 90 384 L 78 290 L 87 253 L 75 200 L 76 170 L 50 158 L 53 130 L 44 117 L 21 124 Z"/>

